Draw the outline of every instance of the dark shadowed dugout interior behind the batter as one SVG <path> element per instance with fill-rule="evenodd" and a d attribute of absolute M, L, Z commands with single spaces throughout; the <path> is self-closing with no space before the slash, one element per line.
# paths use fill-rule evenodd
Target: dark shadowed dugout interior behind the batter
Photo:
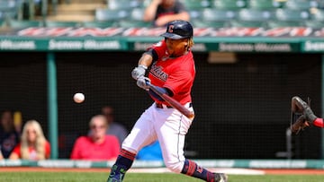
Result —
<path fill-rule="evenodd" d="M 6 23 L 6 22 L 5 22 Z M 4 24 L 4 31 L 10 23 Z M 14 30 L 14 29 L 11 29 Z M 5 39 L 5 38 L 2 38 Z M 68 158 L 88 120 L 109 104 L 116 119 L 131 129 L 151 103 L 130 78 L 141 51 L 59 51 L 55 53 L 58 83 L 58 157 Z M 193 86 L 196 118 L 185 149 L 197 159 L 277 159 L 286 152 L 290 102 L 310 97 L 321 116 L 322 53 L 237 53 L 236 62 L 211 64 L 209 52 L 195 52 Z M 0 108 L 35 118 L 49 135 L 47 52 L 0 52 Z M 85 103 L 72 100 L 85 93 Z M 320 159 L 321 131 L 311 127 L 293 136 L 294 159 Z"/>

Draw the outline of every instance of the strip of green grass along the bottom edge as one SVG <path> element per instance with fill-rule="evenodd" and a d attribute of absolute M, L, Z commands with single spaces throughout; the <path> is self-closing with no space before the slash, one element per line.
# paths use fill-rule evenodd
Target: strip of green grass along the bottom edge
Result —
<path fill-rule="evenodd" d="M 0 169 L 1 171 L 1 169 Z M 0 172 L 0 182 L 105 182 L 103 172 Z M 229 182 L 320 182 L 320 175 L 229 175 Z M 128 173 L 124 182 L 199 182 L 184 175 Z"/>

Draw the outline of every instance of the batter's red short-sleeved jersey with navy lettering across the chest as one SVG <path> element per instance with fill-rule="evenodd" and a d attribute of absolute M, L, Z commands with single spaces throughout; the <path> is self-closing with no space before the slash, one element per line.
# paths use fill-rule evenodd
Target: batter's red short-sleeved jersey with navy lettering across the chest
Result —
<path fill-rule="evenodd" d="M 184 56 L 169 57 L 164 40 L 154 44 L 151 48 L 157 53 L 157 61 L 153 62 L 148 74 L 151 83 L 172 91 L 173 98 L 183 105 L 191 102 L 191 90 L 195 76 L 193 53 L 189 51 Z M 168 105 L 166 101 L 151 98 L 157 103 Z"/>

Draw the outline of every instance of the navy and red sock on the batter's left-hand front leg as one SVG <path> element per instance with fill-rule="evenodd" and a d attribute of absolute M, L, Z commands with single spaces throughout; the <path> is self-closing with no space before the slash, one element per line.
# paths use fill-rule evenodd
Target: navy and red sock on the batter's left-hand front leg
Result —
<path fill-rule="evenodd" d="M 121 181 L 125 177 L 126 171 L 130 169 L 135 156 L 135 153 L 121 149 L 121 153 L 118 155 L 116 162 L 112 165 L 112 170 L 107 181 L 111 181 L 112 178 L 117 178 Z"/>

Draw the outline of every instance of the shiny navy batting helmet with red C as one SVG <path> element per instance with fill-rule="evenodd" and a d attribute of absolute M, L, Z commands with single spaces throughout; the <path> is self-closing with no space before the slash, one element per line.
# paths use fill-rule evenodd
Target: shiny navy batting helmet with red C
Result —
<path fill-rule="evenodd" d="M 193 26 L 186 21 L 172 21 L 166 24 L 166 32 L 161 36 L 169 39 L 184 39 L 193 37 Z"/>

